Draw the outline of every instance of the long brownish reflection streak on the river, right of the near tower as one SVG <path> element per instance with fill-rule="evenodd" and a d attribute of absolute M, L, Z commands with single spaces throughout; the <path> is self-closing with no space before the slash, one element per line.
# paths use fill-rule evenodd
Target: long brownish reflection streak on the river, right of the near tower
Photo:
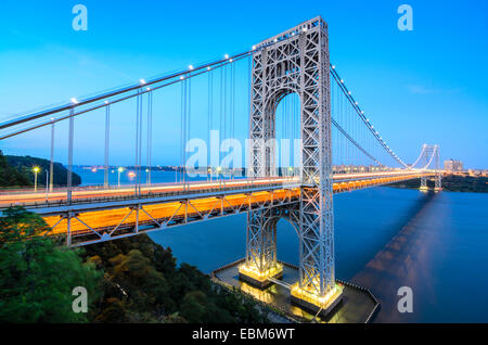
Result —
<path fill-rule="evenodd" d="M 426 193 L 414 209 L 410 220 L 376 255 L 358 272 L 352 281 L 371 286 L 381 302 L 381 309 L 374 321 L 406 322 L 415 319 L 412 314 L 400 314 L 397 309 L 397 291 L 400 286 L 413 290 L 414 314 L 421 306 L 415 303 L 422 298 L 435 298 L 432 289 L 433 272 L 429 267 L 431 252 L 436 232 L 441 229 L 445 217 L 433 214 L 433 205 L 439 194 Z M 433 231 L 434 230 L 434 231 Z M 427 296 L 428 295 L 428 296 Z"/>

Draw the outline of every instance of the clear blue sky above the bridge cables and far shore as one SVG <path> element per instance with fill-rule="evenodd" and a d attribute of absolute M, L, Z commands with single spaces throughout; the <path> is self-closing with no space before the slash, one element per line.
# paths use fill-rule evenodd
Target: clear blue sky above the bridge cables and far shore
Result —
<path fill-rule="evenodd" d="M 87 31 L 72 28 L 76 3 L 88 8 Z M 401 3 L 413 8 L 413 31 L 397 28 Z M 411 162 L 424 142 L 438 143 L 442 159 L 488 168 L 487 11 L 475 0 L 2 0 L 0 118 L 237 53 L 321 15 L 331 62 L 401 157 Z M 102 164 L 101 118 L 77 120 L 75 164 Z M 131 164 L 123 135 L 130 128 L 121 115 L 114 120 L 113 164 Z M 176 125 L 162 119 L 160 128 L 169 138 Z M 5 140 L 1 150 L 48 157 L 48 140 L 42 129 Z M 61 130 L 56 142 L 56 161 L 65 162 Z M 177 140 L 160 143 L 157 164 L 175 163 Z"/>

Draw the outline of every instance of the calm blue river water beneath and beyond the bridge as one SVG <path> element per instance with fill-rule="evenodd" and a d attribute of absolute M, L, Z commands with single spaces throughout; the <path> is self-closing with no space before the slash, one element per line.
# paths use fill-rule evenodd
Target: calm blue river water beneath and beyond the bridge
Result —
<path fill-rule="evenodd" d="M 84 183 L 103 182 L 103 171 L 77 173 Z M 175 173 L 152 180 L 174 181 Z M 372 188 L 335 195 L 334 218 L 336 277 L 380 299 L 375 322 L 488 322 L 488 194 Z M 151 238 L 179 263 L 210 272 L 244 257 L 245 229 L 246 215 L 236 215 Z M 278 257 L 298 264 L 298 239 L 285 220 Z M 412 290 L 412 312 L 398 311 L 400 286 Z"/>

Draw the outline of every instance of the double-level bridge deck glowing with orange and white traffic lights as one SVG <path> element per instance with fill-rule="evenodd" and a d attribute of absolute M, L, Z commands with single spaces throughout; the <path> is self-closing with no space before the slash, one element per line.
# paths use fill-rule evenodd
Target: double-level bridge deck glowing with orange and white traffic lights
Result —
<path fill-rule="evenodd" d="M 394 170 L 333 176 L 334 193 L 432 176 L 427 170 Z M 295 203 L 298 178 L 275 177 L 193 181 L 120 189 L 77 188 L 67 203 L 66 189 L 0 192 L 0 209 L 21 205 L 43 217 L 48 234 L 68 234 L 68 244 L 85 245 L 172 226 Z M 48 197 L 47 197 L 48 196 Z M 69 220 L 68 220 L 69 219 Z"/>

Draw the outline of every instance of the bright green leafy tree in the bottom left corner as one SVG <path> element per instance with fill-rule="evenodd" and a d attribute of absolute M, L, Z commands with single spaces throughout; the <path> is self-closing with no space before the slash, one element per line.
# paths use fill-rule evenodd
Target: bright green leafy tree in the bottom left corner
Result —
<path fill-rule="evenodd" d="M 84 264 L 79 251 L 40 235 L 47 229 L 42 218 L 21 207 L 0 217 L 0 322 L 89 320 L 89 315 L 73 311 L 72 292 L 86 288 L 90 310 L 102 273 Z"/>

